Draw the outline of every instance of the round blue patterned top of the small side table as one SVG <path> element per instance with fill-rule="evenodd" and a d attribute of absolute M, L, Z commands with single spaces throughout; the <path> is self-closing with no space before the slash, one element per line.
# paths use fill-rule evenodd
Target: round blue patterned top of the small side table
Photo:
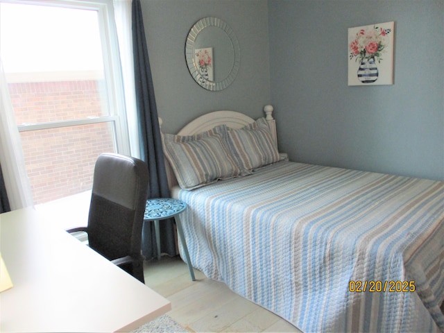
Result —
<path fill-rule="evenodd" d="M 155 198 L 146 200 L 144 219 L 163 220 L 169 219 L 187 208 L 182 200 L 173 198 Z"/>

